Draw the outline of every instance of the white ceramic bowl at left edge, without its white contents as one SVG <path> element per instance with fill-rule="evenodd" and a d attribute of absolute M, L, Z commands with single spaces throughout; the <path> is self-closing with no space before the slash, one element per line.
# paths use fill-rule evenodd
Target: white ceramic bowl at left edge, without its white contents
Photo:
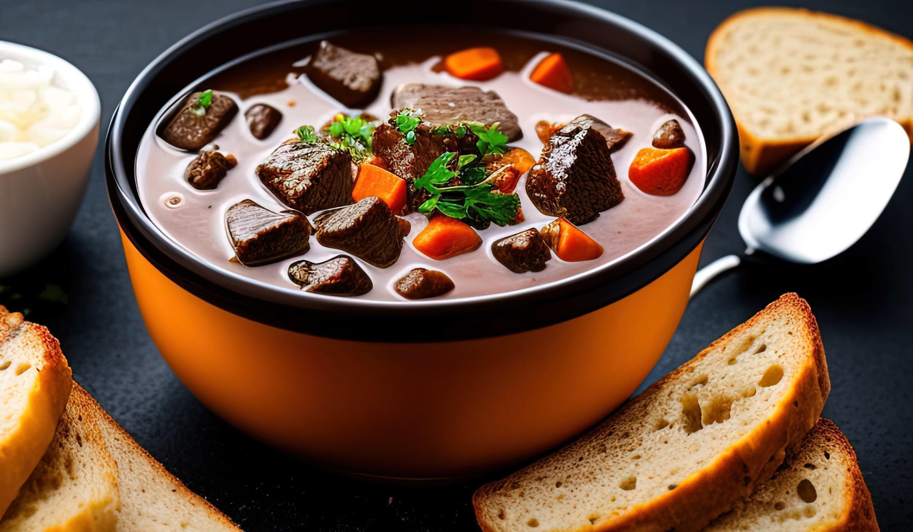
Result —
<path fill-rule="evenodd" d="M 0 41 L 0 58 L 54 68 L 53 84 L 76 93 L 82 113 L 62 139 L 0 161 L 0 278 L 36 263 L 67 235 L 99 141 L 99 94 L 79 68 L 33 47 Z"/>

